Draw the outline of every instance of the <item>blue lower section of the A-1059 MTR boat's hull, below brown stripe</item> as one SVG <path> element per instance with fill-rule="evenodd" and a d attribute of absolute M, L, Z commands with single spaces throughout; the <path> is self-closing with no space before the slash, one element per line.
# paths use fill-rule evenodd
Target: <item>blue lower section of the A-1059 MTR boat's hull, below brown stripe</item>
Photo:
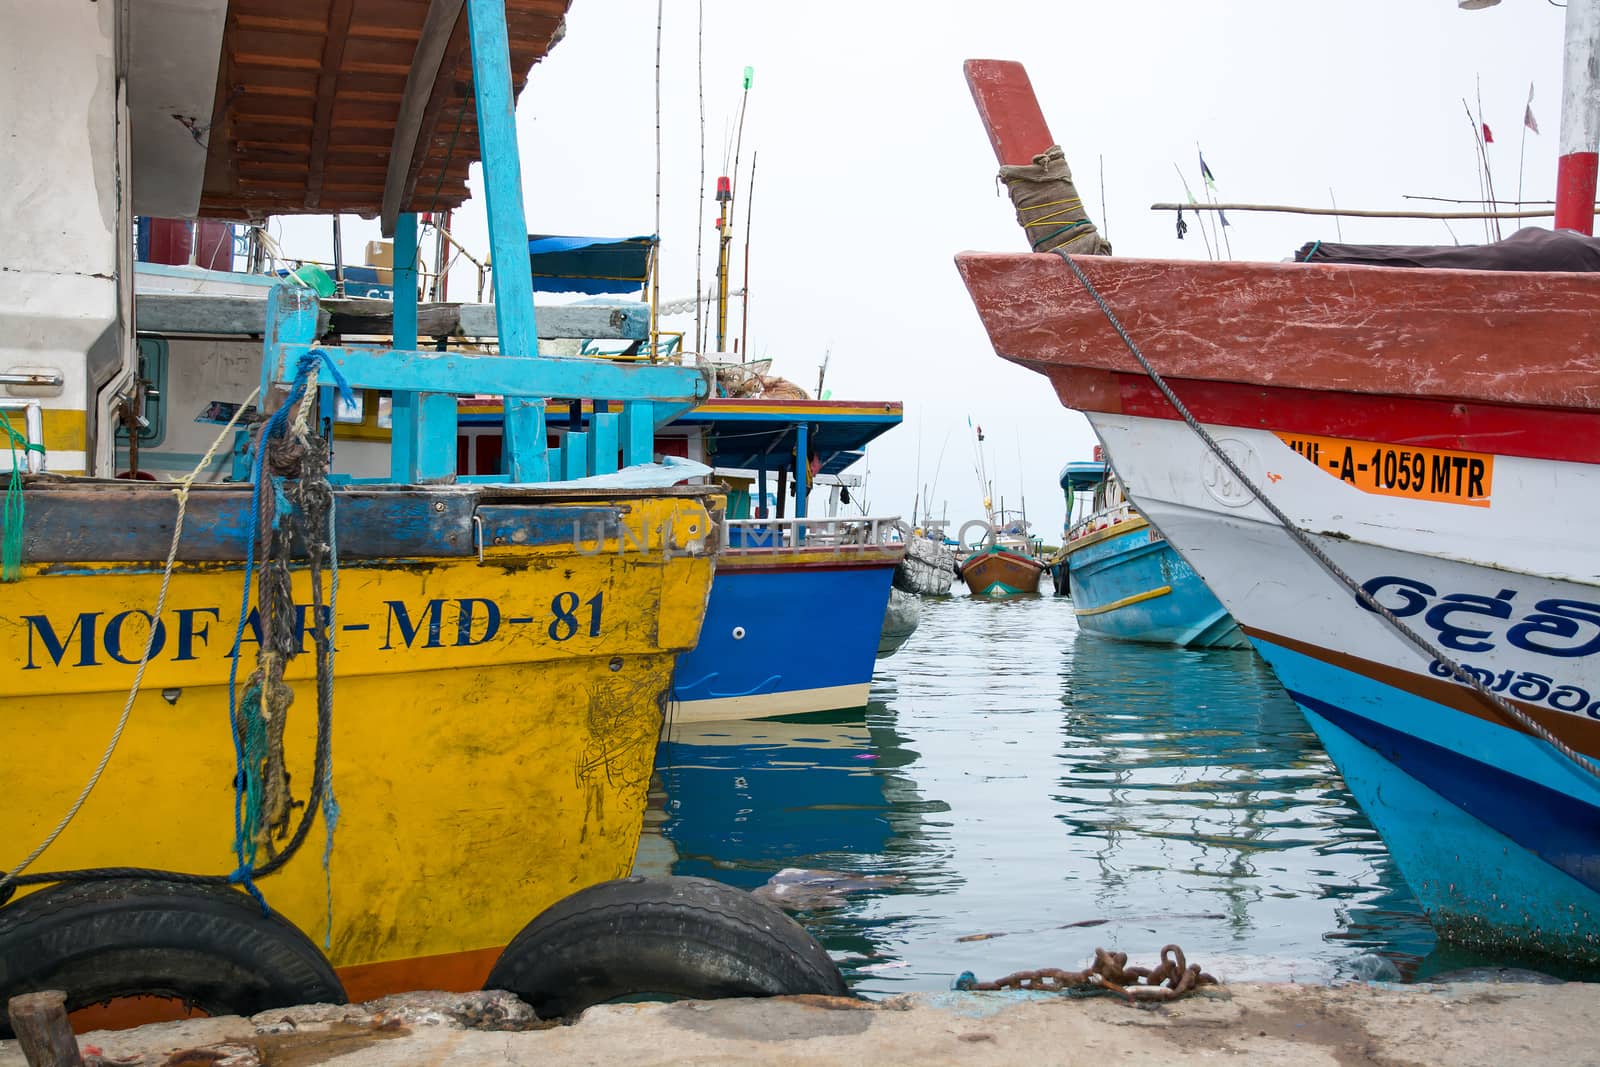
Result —
<path fill-rule="evenodd" d="M 1443 936 L 1600 960 L 1594 779 L 1509 726 L 1254 641 Z"/>

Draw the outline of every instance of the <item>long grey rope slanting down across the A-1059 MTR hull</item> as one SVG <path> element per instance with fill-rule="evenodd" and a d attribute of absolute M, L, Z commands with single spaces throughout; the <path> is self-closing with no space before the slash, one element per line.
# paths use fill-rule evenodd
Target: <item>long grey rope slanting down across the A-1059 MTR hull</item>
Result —
<path fill-rule="evenodd" d="M 1446 656 L 1443 649 L 1437 648 L 1426 637 L 1422 637 L 1421 633 L 1418 633 L 1416 630 L 1413 630 L 1410 625 L 1406 625 L 1400 619 L 1400 616 L 1397 616 L 1394 611 L 1390 611 L 1384 605 L 1378 603 L 1378 600 L 1370 592 L 1366 592 L 1365 589 L 1362 589 L 1362 585 L 1357 584 L 1357 581 L 1354 577 L 1350 577 L 1344 571 L 1344 568 L 1341 568 L 1338 563 L 1334 563 L 1333 558 L 1328 557 L 1328 553 L 1323 552 L 1306 534 L 1304 530 L 1301 530 L 1293 520 L 1290 520 L 1290 517 L 1286 514 L 1283 514 L 1283 509 L 1280 509 L 1277 504 L 1274 504 L 1272 499 L 1269 499 L 1261 491 L 1261 488 L 1256 486 L 1256 483 L 1251 482 L 1248 475 L 1245 475 L 1245 472 L 1240 469 L 1240 466 L 1237 462 L 1234 462 L 1232 456 L 1229 456 L 1226 451 L 1222 451 L 1222 446 L 1216 443 L 1216 438 L 1213 438 L 1206 432 L 1206 429 L 1203 426 L 1200 426 L 1200 421 L 1194 414 L 1190 414 L 1189 408 L 1184 405 L 1184 402 L 1179 400 L 1178 394 L 1174 394 L 1171 390 L 1171 387 L 1166 384 L 1166 379 L 1162 378 L 1154 366 L 1150 366 L 1150 362 L 1144 357 L 1144 352 L 1139 350 L 1139 346 L 1133 341 L 1131 336 L 1128 336 L 1128 331 L 1123 328 L 1122 322 L 1117 318 L 1117 314 L 1112 312 L 1110 304 L 1106 302 L 1106 298 L 1102 298 L 1099 294 L 1099 290 L 1094 288 L 1094 283 L 1090 282 L 1088 275 L 1083 274 L 1083 269 L 1072 259 L 1072 256 L 1069 256 L 1067 253 L 1064 253 L 1061 250 L 1056 250 L 1056 254 L 1061 256 L 1062 262 L 1066 262 L 1067 267 L 1072 269 L 1072 274 L 1075 274 L 1078 277 L 1078 282 L 1083 283 L 1083 288 L 1088 291 L 1090 298 L 1093 298 L 1093 301 L 1099 306 L 1101 312 L 1106 315 L 1106 322 L 1110 323 L 1112 330 L 1117 331 L 1117 336 L 1122 338 L 1122 342 L 1128 347 L 1128 352 L 1133 354 L 1133 358 L 1136 358 L 1139 362 L 1139 366 L 1144 368 L 1144 373 L 1150 378 L 1152 382 L 1155 382 L 1155 387 L 1158 390 L 1162 390 L 1162 395 L 1166 397 L 1166 403 L 1170 403 L 1173 406 L 1173 410 L 1189 426 L 1189 429 L 1194 430 L 1200 437 L 1202 442 L 1205 442 L 1205 446 L 1208 450 L 1211 450 L 1211 453 L 1222 462 L 1224 467 L 1227 467 L 1229 474 L 1232 474 L 1235 478 L 1238 478 L 1238 483 L 1243 485 L 1258 501 L 1261 501 L 1261 506 L 1266 507 L 1267 512 L 1283 526 L 1285 533 L 1288 533 L 1288 536 L 1294 541 L 1294 544 L 1298 544 L 1301 549 L 1304 549 L 1307 555 L 1310 555 L 1325 571 L 1328 571 L 1328 574 L 1331 574 L 1334 579 L 1338 579 L 1341 584 L 1344 584 L 1346 589 L 1349 589 L 1350 592 L 1354 592 L 1357 603 L 1360 603 L 1363 608 L 1368 608 L 1374 614 L 1381 616 L 1403 638 L 1406 638 L 1408 641 L 1411 641 L 1411 645 L 1414 645 L 1424 654 L 1427 654 L 1432 659 L 1435 659 L 1438 664 L 1448 667 L 1451 677 L 1454 677 L 1456 681 L 1461 681 L 1462 685 L 1466 685 L 1467 688 L 1470 688 L 1474 693 L 1477 693 L 1478 696 L 1482 696 L 1491 707 L 1494 707 L 1496 710 L 1499 710 L 1506 718 L 1509 718 L 1510 721 L 1520 725 L 1523 729 L 1526 729 L 1533 736 L 1536 736 L 1541 741 L 1544 741 L 1546 744 L 1549 744 L 1552 749 L 1555 749 L 1557 752 L 1560 752 L 1562 755 L 1565 755 L 1568 760 L 1571 760 L 1581 769 L 1587 771 L 1589 774 L 1592 774 L 1595 777 L 1600 777 L 1600 765 L 1595 765 L 1594 760 L 1590 760 L 1589 757 L 1582 755 L 1581 752 L 1578 752 L 1576 749 L 1573 749 L 1570 744 L 1566 744 L 1565 741 L 1562 741 L 1560 737 L 1557 737 L 1555 733 L 1552 733 L 1544 723 L 1538 721 L 1536 718 L 1533 718 L 1531 715 L 1528 715 L 1526 712 L 1523 712 L 1520 707 L 1514 705 L 1510 701 L 1507 701 L 1502 696 L 1499 696 L 1498 693 L 1490 691 L 1490 688 L 1486 685 L 1483 685 L 1483 681 L 1480 681 L 1475 675 L 1472 675 L 1470 672 L 1467 672 L 1454 659 L 1451 659 L 1450 656 Z"/>

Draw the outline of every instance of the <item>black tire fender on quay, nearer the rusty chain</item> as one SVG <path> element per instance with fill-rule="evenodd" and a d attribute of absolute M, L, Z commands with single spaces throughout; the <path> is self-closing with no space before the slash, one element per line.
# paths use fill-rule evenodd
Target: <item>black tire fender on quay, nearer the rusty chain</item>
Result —
<path fill-rule="evenodd" d="M 848 997 L 838 966 L 800 923 L 709 878 L 618 878 L 581 889 L 523 926 L 485 989 L 544 1019 L 621 997 L 694 1000 Z"/>

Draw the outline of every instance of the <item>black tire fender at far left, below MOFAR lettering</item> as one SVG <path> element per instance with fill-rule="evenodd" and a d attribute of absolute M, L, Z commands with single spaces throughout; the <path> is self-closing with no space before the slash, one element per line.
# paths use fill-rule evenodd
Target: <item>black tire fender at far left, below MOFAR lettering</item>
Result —
<path fill-rule="evenodd" d="M 42 989 L 64 990 L 67 1011 L 138 995 L 213 1016 L 346 1003 L 317 945 L 245 893 L 144 878 L 58 885 L 0 907 L 0 1005 Z"/>

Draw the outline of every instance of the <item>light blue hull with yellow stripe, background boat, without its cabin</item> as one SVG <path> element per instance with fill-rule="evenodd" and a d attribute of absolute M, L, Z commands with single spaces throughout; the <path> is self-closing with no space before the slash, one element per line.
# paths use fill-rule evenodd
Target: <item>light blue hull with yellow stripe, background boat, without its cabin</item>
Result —
<path fill-rule="evenodd" d="M 1062 549 L 1078 629 L 1179 648 L 1250 648 L 1194 568 L 1133 517 Z"/>

